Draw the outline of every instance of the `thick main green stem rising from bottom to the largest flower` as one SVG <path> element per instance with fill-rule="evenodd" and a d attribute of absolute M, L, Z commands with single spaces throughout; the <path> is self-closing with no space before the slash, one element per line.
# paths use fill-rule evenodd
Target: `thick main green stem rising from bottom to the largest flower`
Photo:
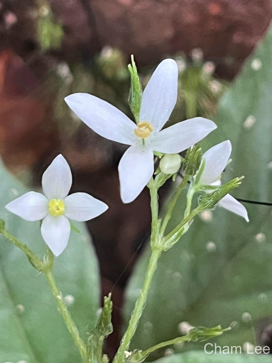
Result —
<path fill-rule="evenodd" d="M 158 220 L 158 189 L 154 184 L 153 178 L 149 181 L 148 187 L 150 189 L 151 196 L 151 213 L 152 213 L 152 225 L 151 225 L 151 257 L 149 260 L 147 272 L 145 273 L 144 284 L 139 294 L 139 297 L 136 301 L 135 308 L 132 312 L 131 319 L 128 323 L 128 328 L 121 340 L 120 347 L 116 356 L 114 358 L 114 363 L 123 363 L 124 362 L 124 352 L 129 349 L 129 344 L 137 326 L 139 324 L 140 317 L 143 313 L 145 303 L 147 301 L 148 291 L 151 286 L 151 282 L 154 276 L 154 273 L 157 268 L 158 259 L 161 256 L 161 250 L 157 248 L 160 240 L 160 236 L 158 234 L 158 230 L 160 228 L 160 221 Z"/>

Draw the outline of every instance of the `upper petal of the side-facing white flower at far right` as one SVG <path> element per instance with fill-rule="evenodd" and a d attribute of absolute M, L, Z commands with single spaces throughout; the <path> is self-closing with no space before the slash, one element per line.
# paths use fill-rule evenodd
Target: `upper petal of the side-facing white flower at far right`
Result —
<path fill-rule="evenodd" d="M 230 140 L 223 141 L 207 150 L 202 157 L 202 159 L 205 159 L 205 167 L 199 183 L 208 185 L 217 180 L 226 167 L 230 154 Z"/>

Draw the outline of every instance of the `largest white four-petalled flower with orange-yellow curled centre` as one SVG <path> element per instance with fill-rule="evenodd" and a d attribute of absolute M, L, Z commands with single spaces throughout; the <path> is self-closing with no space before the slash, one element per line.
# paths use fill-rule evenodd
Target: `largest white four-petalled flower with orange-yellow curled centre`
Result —
<path fill-rule="evenodd" d="M 119 163 L 121 199 L 133 201 L 154 172 L 153 151 L 177 154 L 216 129 L 214 122 L 195 117 L 162 130 L 177 102 L 178 66 L 162 61 L 143 92 L 140 122 L 135 125 L 116 107 L 86 93 L 65 98 L 67 105 L 99 135 L 131 145 Z"/>

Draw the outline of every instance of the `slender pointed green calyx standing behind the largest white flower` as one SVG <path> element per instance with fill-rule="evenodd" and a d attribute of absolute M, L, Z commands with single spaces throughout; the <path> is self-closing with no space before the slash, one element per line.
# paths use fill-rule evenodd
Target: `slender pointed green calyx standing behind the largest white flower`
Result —
<path fill-rule="evenodd" d="M 135 117 L 135 121 L 136 123 L 138 123 L 143 90 L 133 56 L 131 56 L 131 64 L 128 65 L 128 70 L 131 76 L 131 86 L 129 91 L 128 103 Z"/>

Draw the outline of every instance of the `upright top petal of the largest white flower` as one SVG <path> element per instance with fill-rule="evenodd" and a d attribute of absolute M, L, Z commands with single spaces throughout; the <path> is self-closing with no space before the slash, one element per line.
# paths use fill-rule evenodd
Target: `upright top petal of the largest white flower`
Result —
<path fill-rule="evenodd" d="M 173 59 L 165 59 L 157 66 L 144 89 L 140 121 L 152 122 L 154 131 L 160 131 L 176 105 L 177 94 L 177 63 Z"/>

